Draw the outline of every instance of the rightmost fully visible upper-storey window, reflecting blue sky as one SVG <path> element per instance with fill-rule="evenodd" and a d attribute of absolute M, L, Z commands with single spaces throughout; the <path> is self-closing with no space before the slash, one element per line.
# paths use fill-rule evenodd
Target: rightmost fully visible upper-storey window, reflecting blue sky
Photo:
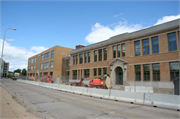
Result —
<path fill-rule="evenodd" d="M 169 51 L 177 50 L 176 32 L 168 34 Z"/>

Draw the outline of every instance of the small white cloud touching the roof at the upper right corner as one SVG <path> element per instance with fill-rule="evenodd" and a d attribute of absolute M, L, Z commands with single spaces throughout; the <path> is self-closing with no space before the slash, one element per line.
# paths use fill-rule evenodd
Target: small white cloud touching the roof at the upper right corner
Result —
<path fill-rule="evenodd" d="M 180 18 L 180 14 L 176 15 L 176 16 L 173 16 L 173 15 L 172 16 L 164 16 L 161 19 L 158 19 L 157 23 L 154 25 L 162 24 L 162 23 L 169 22 L 169 21 L 172 21 L 175 19 L 179 19 L 179 18 Z"/>

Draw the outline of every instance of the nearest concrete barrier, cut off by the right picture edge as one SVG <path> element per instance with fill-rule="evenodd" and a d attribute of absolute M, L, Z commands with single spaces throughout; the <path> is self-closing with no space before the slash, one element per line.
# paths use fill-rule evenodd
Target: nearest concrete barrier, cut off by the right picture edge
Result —
<path fill-rule="evenodd" d="M 180 110 L 180 96 L 157 93 L 145 93 L 143 105 Z"/>

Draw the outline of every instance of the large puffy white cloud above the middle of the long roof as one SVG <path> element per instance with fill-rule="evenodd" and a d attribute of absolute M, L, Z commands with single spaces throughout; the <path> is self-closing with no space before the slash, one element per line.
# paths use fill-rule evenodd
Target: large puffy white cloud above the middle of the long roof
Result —
<path fill-rule="evenodd" d="M 126 32 L 133 32 L 139 29 L 142 29 L 143 26 L 140 24 L 128 24 L 126 20 L 123 22 L 119 22 L 116 25 L 113 25 L 113 28 L 110 26 L 103 26 L 100 23 L 96 23 L 91 28 L 91 33 L 89 33 L 85 39 L 89 43 L 96 43 L 103 40 L 107 40 L 112 36 L 126 33 Z"/>

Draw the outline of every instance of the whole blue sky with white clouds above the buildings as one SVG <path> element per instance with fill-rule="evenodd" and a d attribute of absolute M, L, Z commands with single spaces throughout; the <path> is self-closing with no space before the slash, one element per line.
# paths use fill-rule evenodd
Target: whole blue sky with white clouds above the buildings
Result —
<path fill-rule="evenodd" d="M 56 45 L 75 48 L 180 18 L 179 1 L 0 1 L 0 54 L 9 70 Z"/>

